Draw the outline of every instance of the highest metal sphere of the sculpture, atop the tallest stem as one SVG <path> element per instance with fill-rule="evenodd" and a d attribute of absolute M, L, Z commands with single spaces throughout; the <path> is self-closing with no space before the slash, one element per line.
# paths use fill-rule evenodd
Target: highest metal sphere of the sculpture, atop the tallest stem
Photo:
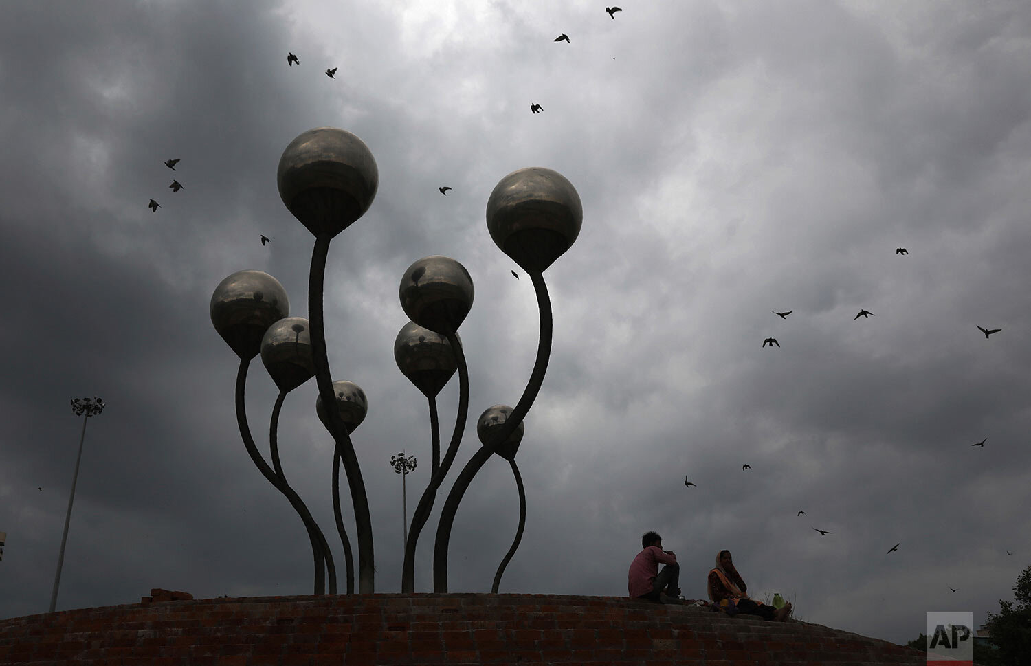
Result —
<path fill-rule="evenodd" d="M 290 142 L 275 180 L 290 212 L 315 236 L 332 238 L 369 209 L 379 170 L 362 139 L 319 127 Z"/>

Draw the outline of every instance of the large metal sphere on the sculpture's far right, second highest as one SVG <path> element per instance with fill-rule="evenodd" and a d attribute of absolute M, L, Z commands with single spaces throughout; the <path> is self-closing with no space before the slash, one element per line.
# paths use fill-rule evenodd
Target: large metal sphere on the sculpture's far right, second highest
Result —
<path fill-rule="evenodd" d="M 558 171 L 512 171 L 487 201 L 487 229 L 501 252 L 528 272 L 542 273 L 579 235 L 584 206 Z"/>

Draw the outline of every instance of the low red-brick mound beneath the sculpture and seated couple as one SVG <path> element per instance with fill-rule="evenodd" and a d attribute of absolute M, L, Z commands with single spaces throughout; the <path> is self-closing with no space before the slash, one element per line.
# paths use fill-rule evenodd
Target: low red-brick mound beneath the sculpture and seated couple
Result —
<path fill-rule="evenodd" d="M 925 664 L 922 652 L 821 625 L 625 597 L 152 593 L 138 604 L 0 620 L 0 663 Z"/>

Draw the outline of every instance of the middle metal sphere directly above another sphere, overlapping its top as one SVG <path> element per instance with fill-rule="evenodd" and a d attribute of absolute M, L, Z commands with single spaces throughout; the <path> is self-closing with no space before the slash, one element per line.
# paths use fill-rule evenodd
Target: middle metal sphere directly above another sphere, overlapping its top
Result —
<path fill-rule="evenodd" d="M 415 324 L 446 335 L 472 307 L 472 277 L 448 257 L 424 257 L 404 271 L 401 307 Z"/>

